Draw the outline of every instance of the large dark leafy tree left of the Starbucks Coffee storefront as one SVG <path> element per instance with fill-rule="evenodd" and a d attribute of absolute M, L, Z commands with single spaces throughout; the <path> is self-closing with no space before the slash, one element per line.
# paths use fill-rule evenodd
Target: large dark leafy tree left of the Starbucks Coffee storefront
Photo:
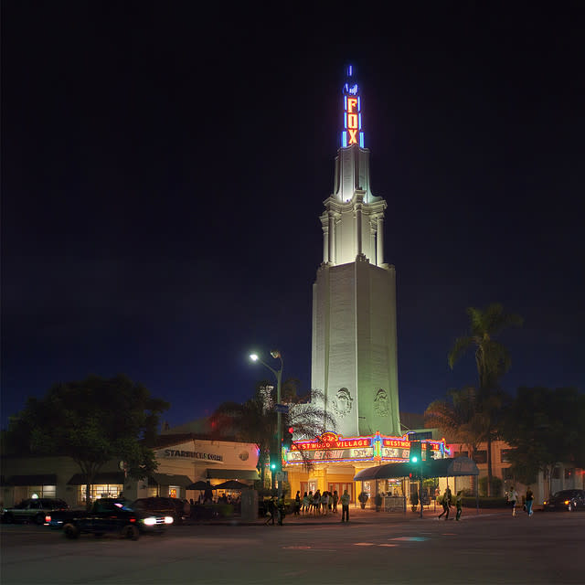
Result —
<path fill-rule="evenodd" d="M 73 459 L 85 477 L 90 505 L 90 485 L 112 459 L 122 459 L 137 479 L 156 469 L 152 447 L 159 416 L 168 408 L 122 374 L 90 376 L 55 384 L 43 399 L 29 398 L 11 418 L 6 441 L 12 452 Z"/>

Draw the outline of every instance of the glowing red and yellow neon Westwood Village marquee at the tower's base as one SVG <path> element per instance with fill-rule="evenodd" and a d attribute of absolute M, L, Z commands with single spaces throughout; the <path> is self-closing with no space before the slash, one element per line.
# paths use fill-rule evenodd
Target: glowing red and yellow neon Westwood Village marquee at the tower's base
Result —
<path fill-rule="evenodd" d="M 433 459 L 445 456 L 445 441 L 423 441 L 425 456 L 433 452 Z M 377 432 L 367 437 L 342 437 L 335 432 L 325 432 L 313 441 L 294 441 L 291 449 L 284 452 L 284 463 L 357 462 L 388 461 L 405 463 L 409 461 L 409 435 L 390 437 Z"/>

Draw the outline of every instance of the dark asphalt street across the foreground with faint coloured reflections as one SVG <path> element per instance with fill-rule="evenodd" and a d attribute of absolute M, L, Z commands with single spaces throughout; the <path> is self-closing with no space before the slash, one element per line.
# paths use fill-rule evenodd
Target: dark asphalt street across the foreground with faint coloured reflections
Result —
<path fill-rule="evenodd" d="M 193 524 L 138 541 L 1 527 L 3 585 L 19 583 L 583 583 L 585 512 L 461 522 L 352 508 L 263 523 Z"/>

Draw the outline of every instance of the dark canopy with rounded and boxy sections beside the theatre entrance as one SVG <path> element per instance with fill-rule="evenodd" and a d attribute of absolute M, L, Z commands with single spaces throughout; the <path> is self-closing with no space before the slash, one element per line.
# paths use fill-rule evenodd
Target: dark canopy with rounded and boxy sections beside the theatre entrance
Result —
<path fill-rule="evenodd" d="M 410 473 L 418 473 L 419 470 L 420 466 L 415 466 L 413 463 L 385 463 L 356 473 L 354 481 L 408 477 Z M 422 474 L 425 477 L 460 477 L 462 475 L 479 475 L 479 469 L 473 459 L 455 457 L 454 459 L 433 459 L 422 463 Z"/>

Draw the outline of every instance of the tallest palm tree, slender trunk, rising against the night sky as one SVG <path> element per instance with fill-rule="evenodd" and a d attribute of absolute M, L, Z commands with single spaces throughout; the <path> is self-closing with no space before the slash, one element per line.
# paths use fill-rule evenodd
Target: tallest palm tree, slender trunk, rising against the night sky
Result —
<path fill-rule="evenodd" d="M 470 348 L 475 348 L 475 365 L 479 377 L 478 408 L 482 412 L 487 443 L 487 495 L 492 495 L 492 440 L 495 438 L 495 423 L 502 406 L 500 378 L 511 366 L 508 350 L 495 341 L 494 336 L 509 326 L 519 326 L 522 317 L 505 313 L 499 303 L 488 305 L 484 311 L 469 307 L 470 334 L 458 337 L 449 353 L 449 366 L 454 367 L 457 360 Z"/>

